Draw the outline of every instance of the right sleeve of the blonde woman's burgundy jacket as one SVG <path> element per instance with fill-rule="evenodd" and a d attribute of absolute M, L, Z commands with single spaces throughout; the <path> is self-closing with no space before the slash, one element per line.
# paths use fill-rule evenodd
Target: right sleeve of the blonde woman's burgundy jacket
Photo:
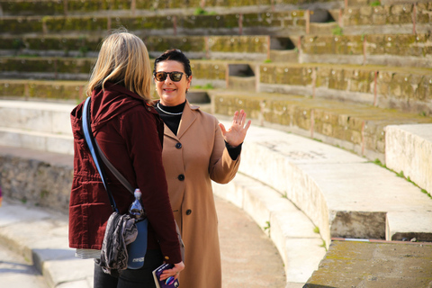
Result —
<path fill-rule="evenodd" d="M 122 121 L 121 130 L 124 139 L 127 139 L 148 221 L 155 229 L 166 262 L 179 263 L 182 257 L 162 164 L 162 145 L 157 133 L 157 120 L 154 114 L 145 110 L 127 114 L 127 121 Z"/>

